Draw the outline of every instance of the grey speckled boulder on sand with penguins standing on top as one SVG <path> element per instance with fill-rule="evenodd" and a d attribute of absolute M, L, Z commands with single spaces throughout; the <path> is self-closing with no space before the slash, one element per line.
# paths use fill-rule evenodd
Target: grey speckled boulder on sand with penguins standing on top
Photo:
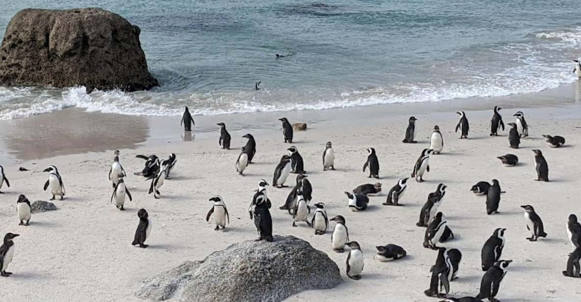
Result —
<path fill-rule="evenodd" d="M 152 301 L 275 302 L 342 282 L 327 254 L 302 239 L 274 236 L 274 242 L 245 241 L 203 261 L 186 261 L 146 279 L 137 296 Z"/>

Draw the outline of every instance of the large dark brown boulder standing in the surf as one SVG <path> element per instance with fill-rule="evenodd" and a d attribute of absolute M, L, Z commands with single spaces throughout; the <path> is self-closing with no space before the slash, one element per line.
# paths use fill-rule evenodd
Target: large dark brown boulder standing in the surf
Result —
<path fill-rule="evenodd" d="M 0 46 L 0 86 L 152 88 L 140 32 L 99 8 L 20 10 Z"/>

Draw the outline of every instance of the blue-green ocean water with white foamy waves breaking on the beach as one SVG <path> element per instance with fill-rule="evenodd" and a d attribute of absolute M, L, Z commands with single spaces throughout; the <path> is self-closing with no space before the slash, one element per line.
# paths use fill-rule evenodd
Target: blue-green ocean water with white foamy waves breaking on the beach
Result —
<path fill-rule="evenodd" d="M 75 2 L 5 1 L 0 38 L 23 8 L 105 8 L 141 27 L 160 87 L 0 87 L 0 120 L 73 106 L 176 116 L 523 94 L 577 81 L 581 56 L 578 1 Z"/>

